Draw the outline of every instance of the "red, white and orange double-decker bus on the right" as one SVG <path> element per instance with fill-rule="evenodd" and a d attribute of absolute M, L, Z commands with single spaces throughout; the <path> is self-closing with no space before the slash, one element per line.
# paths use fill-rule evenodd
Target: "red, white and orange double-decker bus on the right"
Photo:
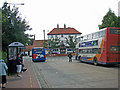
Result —
<path fill-rule="evenodd" d="M 108 27 L 79 37 L 78 60 L 94 65 L 120 64 L 120 28 Z"/>

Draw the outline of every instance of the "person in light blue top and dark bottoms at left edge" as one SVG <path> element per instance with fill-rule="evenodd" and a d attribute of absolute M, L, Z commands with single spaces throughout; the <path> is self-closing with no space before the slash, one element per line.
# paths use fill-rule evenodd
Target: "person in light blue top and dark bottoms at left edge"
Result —
<path fill-rule="evenodd" d="M 5 88 L 6 87 L 6 82 L 7 82 L 6 71 L 7 71 L 8 67 L 7 67 L 4 60 L 0 60 L 0 68 L 2 68 L 2 69 L 0 69 L 0 76 L 2 78 L 2 80 L 0 80 L 0 81 L 2 81 L 1 82 L 2 83 L 2 88 Z"/>

